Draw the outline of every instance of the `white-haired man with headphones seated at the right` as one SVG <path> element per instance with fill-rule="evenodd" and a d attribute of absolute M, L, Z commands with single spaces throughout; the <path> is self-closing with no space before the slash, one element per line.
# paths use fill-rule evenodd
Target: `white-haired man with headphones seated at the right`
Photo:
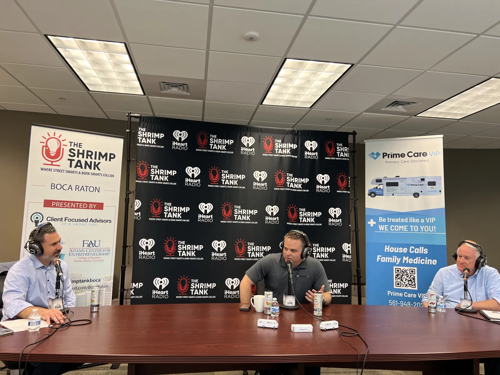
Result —
<path fill-rule="evenodd" d="M 460 306 L 460 298 L 463 298 L 463 268 L 468 268 L 471 308 L 500 311 L 500 274 L 495 268 L 486 265 L 482 247 L 474 241 L 463 240 L 453 253 L 453 259 L 456 264 L 439 269 L 430 285 L 436 295 L 444 297 L 446 307 Z M 422 298 L 422 302 L 427 307 L 427 295 Z"/>

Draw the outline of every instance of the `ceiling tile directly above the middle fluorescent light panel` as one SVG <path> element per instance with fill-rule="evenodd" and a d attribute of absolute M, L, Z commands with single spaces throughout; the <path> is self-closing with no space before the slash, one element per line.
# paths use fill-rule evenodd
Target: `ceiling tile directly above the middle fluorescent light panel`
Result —
<path fill-rule="evenodd" d="M 357 62 L 391 26 L 307 17 L 288 57 Z M 341 37 L 332 37 L 341 35 Z"/>

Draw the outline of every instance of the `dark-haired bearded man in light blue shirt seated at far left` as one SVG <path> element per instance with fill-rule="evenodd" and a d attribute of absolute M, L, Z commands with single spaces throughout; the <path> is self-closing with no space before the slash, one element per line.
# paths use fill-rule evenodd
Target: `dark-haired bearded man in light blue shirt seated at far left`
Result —
<path fill-rule="evenodd" d="M 33 308 L 43 320 L 50 323 L 62 322 L 64 315 L 58 309 L 48 308 L 48 298 L 55 298 L 55 266 L 52 260 L 58 258 L 62 246 L 60 237 L 51 223 L 40 223 L 29 234 L 24 248 L 29 254 L 15 263 L 7 273 L 3 284 L 2 319 L 13 317 L 28 318 Z M 67 264 L 61 260 L 64 274 L 61 294 L 64 306 L 75 306 L 75 296 L 71 289 Z M 63 286 L 63 288 L 62 288 Z"/>

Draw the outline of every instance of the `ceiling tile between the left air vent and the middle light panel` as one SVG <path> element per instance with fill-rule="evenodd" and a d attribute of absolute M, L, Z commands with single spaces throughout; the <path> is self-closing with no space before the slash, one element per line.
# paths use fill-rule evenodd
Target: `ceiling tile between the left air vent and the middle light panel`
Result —
<path fill-rule="evenodd" d="M 209 80 L 206 82 L 206 100 L 221 103 L 258 104 L 266 85 Z"/>

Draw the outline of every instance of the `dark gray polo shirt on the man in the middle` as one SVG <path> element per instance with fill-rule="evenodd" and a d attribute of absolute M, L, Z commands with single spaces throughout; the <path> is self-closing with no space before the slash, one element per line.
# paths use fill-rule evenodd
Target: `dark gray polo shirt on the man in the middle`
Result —
<path fill-rule="evenodd" d="M 330 291 L 330 283 L 324 268 L 313 257 L 307 257 L 292 269 L 293 288 L 295 296 L 300 303 L 307 303 L 305 293 L 307 290 L 319 290 L 324 285 L 323 291 Z M 253 283 L 264 280 L 264 288 L 272 290 L 272 296 L 282 302 L 283 294 L 288 294 L 288 270 L 283 259 L 283 253 L 267 254 L 260 258 L 247 271 L 246 275 Z"/>

